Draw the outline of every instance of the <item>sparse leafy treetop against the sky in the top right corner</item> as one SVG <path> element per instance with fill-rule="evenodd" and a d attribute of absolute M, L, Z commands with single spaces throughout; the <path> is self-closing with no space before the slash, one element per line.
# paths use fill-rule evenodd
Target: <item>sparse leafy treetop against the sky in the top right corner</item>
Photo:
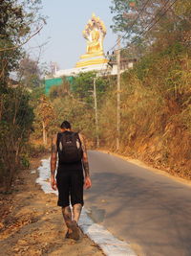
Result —
<path fill-rule="evenodd" d="M 184 33 L 190 31 L 191 3 L 189 0 L 173 3 L 137 0 L 136 7 L 131 7 L 130 1 L 114 0 L 111 7 L 115 13 L 113 30 L 122 33 L 127 43 L 133 41 L 137 47 L 144 46 L 143 52 L 156 42 L 166 47 L 175 40 L 181 41 Z"/>

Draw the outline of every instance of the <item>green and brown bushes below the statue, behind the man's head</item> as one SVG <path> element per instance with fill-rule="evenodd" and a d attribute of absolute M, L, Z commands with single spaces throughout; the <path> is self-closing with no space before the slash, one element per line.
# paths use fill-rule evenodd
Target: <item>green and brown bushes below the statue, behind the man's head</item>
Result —
<path fill-rule="evenodd" d="M 100 108 L 107 94 L 109 81 L 96 78 L 95 72 L 81 73 L 72 83 L 63 78 L 63 84 L 53 87 L 50 92 L 56 117 L 54 128 L 59 128 L 64 120 L 68 120 L 74 130 L 86 135 L 91 145 L 94 145 L 96 139 L 94 79 L 97 105 Z"/>

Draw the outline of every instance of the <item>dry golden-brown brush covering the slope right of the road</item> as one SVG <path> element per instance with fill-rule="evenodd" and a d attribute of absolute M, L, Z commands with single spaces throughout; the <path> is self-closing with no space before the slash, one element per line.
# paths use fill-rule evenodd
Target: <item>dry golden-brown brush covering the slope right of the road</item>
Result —
<path fill-rule="evenodd" d="M 179 43 L 146 55 L 121 77 L 119 151 L 191 178 L 191 53 Z M 100 109 L 104 147 L 115 150 L 116 92 Z M 106 106 L 106 108 L 105 108 Z M 113 125 L 115 124 L 115 125 Z"/>

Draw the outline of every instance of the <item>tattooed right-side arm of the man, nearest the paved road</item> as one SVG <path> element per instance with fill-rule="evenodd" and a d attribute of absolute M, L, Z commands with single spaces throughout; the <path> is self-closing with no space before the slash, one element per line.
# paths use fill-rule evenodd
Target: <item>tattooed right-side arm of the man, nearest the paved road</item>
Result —
<path fill-rule="evenodd" d="M 79 133 L 79 139 L 81 141 L 81 148 L 83 151 L 83 156 L 82 156 L 82 164 L 83 164 L 83 169 L 84 169 L 84 174 L 85 174 L 85 188 L 90 188 L 92 186 L 92 181 L 90 179 L 90 170 L 89 170 L 89 163 L 88 163 L 88 153 L 86 150 L 86 143 L 84 137 Z"/>

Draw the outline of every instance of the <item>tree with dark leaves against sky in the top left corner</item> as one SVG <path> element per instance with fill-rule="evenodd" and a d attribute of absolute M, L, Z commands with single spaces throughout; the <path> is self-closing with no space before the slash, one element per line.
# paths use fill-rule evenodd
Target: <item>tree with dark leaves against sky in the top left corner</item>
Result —
<path fill-rule="evenodd" d="M 0 2 L 0 85 L 7 86 L 8 77 L 18 68 L 22 45 L 39 32 L 44 17 L 38 15 L 40 0 Z"/>

